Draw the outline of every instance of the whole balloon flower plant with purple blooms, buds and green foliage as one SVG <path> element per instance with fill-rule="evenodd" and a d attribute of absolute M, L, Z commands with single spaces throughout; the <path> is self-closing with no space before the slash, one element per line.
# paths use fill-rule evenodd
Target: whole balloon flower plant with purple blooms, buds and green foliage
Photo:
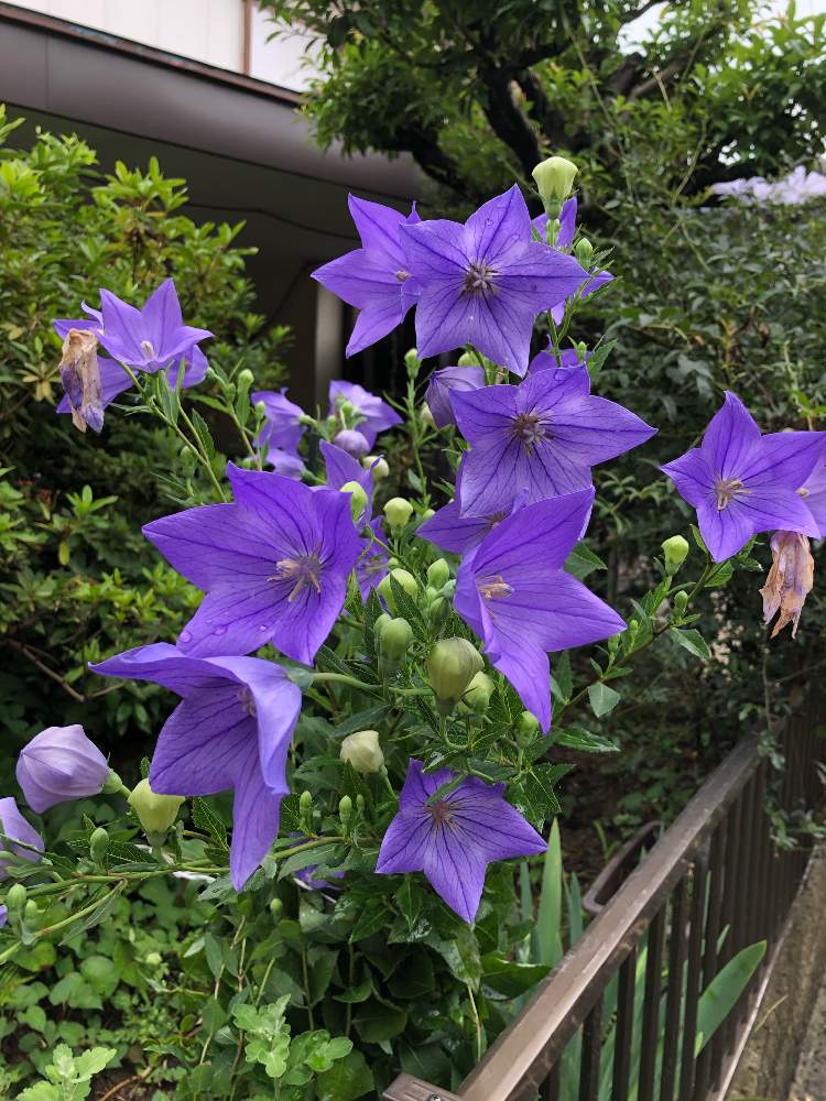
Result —
<path fill-rule="evenodd" d="M 698 617 L 740 571 L 764 575 L 753 619 L 796 630 L 826 434 L 761 432 L 730 391 L 662 468 L 696 524 L 657 533 L 654 584 L 618 608 L 586 584 L 591 470 L 656 429 L 600 395 L 611 344 L 577 329 L 612 276 L 577 229 L 576 166 L 533 175 L 533 219 L 517 185 L 465 222 L 351 197 L 362 247 L 314 275 L 359 310 L 351 353 L 415 310 L 395 405 L 336 381 L 314 414 L 225 370 L 171 279 L 55 321 L 66 423 L 105 443 L 124 411 L 174 442 L 180 508 L 143 555 L 203 598 L 176 636 L 93 662 L 124 697 L 166 690 L 141 774 L 55 715 L 18 757 L 24 802 L 0 800 L 0 963 L 31 1029 L 6 1073 L 42 1075 L 26 1101 L 87 1095 L 131 1046 L 55 1046 L 52 966 L 53 1004 L 94 1012 L 123 980 L 133 1018 L 157 1007 L 132 1044 L 159 1098 L 349 1101 L 402 1068 L 457 1084 L 555 962 L 531 957 L 533 872 L 572 754 L 615 749 L 598 723 L 627 678 L 661 647 L 707 658 Z M 196 405 L 231 426 L 229 460 Z M 116 964 L 113 916 L 133 934 Z"/>

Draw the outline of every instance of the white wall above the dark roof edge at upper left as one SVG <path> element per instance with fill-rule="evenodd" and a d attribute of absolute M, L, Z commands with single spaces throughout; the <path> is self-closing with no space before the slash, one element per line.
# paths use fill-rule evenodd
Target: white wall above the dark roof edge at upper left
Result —
<path fill-rule="evenodd" d="M 240 73 L 243 69 L 243 0 L 7 0 L 81 26 Z M 298 35 L 267 36 L 272 29 L 250 4 L 250 75 L 303 90 L 306 42 Z"/>

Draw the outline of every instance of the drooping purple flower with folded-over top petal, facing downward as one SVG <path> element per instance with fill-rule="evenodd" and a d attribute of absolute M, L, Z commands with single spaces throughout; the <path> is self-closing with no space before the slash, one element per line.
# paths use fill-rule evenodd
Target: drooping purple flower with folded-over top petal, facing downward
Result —
<path fill-rule="evenodd" d="M 279 832 L 301 690 L 272 662 L 186 657 L 165 642 L 128 650 L 91 668 L 102 676 L 151 680 L 182 697 L 157 739 L 150 784 L 159 795 L 233 788 L 229 869 L 240 891 Z"/>

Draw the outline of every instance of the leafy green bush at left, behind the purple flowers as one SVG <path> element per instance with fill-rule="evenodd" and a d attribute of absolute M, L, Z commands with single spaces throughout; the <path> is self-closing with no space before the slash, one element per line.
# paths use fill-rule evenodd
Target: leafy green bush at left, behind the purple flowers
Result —
<path fill-rule="evenodd" d="M 0 108 L 0 723 L 12 754 L 55 722 L 83 718 L 109 738 L 152 729 L 151 702 L 116 706 L 86 663 L 174 634 L 195 599 L 150 564 L 140 534 L 159 494 L 174 494 L 175 445 L 137 416 L 79 438 L 55 415 L 53 318 L 97 305 L 100 286 L 142 301 L 172 275 L 192 324 L 219 334 L 210 362 L 275 385 L 286 339 L 253 309 L 242 224 L 196 225 L 184 181 L 154 157 L 104 177 L 74 135 L 39 131 L 31 150 L 6 148 L 20 121 Z"/>

